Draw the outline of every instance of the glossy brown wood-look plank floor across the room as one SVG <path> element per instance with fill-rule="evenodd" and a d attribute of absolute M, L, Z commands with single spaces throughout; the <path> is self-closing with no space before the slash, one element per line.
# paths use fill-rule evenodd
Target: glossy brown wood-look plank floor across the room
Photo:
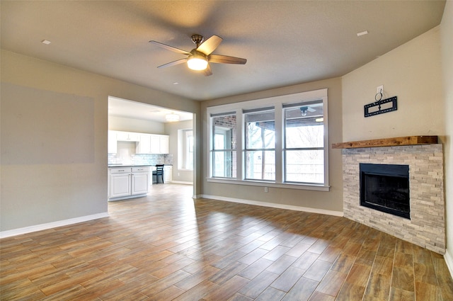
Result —
<path fill-rule="evenodd" d="M 1 300 L 453 300 L 432 251 L 344 217 L 192 195 L 154 185 L 110 217 L 1 239 Z"/>

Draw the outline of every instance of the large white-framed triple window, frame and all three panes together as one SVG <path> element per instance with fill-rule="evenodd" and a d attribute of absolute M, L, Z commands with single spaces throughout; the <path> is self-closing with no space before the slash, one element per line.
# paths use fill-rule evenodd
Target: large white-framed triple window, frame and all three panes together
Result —
<path fill-rule="evenodd" d="M 208 181 L 328 191 L 327 89 L 207 108 Z"/>

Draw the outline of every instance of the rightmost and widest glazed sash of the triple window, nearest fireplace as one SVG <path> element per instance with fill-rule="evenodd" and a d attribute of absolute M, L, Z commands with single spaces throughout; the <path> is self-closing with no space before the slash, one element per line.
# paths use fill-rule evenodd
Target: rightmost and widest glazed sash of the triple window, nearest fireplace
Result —
<path fill-rule="evenodd" d="M 323 101 L 286 106 L 284 115 L 285 181 L 324 183 Z"/>

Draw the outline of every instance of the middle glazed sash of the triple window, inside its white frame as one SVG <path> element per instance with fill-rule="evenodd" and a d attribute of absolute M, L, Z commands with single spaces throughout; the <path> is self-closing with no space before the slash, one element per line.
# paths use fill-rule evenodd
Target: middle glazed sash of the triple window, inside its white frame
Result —
<path fill-rule="evenodd" d="M 275 110 L 253 111 L 243 114 L 245 178 L 275 181 Z"/>

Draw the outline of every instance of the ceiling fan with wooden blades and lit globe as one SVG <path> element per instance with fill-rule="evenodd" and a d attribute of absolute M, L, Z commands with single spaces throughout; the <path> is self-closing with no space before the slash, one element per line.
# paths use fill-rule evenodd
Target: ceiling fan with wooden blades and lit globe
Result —
<path fill-rule="evenodd" d="M 193 70 L 203 70 L 205 76 L 212 75 L 212 70 L 209 63 L 219 64 L 246 64 L 247 59 L 241 57 L 229 57 L 227 55 L 214 55 L 212 52 L 220 45 L 222 38 L 218 35 L 212 35 L 211 38 L 205 40 L 202 35 L 192 35 L 192 41 L 197 45 L 190 52 L 151 40 L 149 42 L 159 47 L 178 52 L 182 55 L 187 55 L 185 59 L 177 59 L 176 61 L 163 64 L 158 68 L 170 67 L 176 64 L 187 62 L 188 67 Z"/>

